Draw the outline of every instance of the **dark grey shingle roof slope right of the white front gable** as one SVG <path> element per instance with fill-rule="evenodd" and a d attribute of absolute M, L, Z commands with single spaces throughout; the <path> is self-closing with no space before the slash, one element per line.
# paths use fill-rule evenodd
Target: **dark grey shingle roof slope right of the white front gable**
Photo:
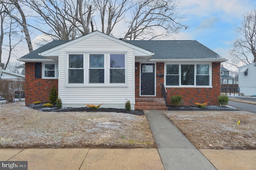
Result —
<path fill-rule="evenodd" d="M 196 40 L 132 40 L 126 42 L 154 52 L 152 59 L 224 59 Z"/>

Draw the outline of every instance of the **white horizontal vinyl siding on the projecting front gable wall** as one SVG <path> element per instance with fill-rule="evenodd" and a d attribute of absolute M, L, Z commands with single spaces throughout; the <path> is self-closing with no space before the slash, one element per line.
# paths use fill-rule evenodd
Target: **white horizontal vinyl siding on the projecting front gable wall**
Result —
<path fill-rule="evenodd" d="M 122 84 L 110 84 L 109 80 L 104 84 L 93 83 L 88 81 L 89 69 L 85 69 L 85 79 L 87 82 L 84 84 L 68 84 L 67 74 L 67 55 L 74 53 L 82 54 L 126 54 L 125 61 L 125 82 Z M 86 58 L 86 57 L 85 57 Z M 59 95 L 62 103 L 70 105 L 76 104 L 119 104 L 124 108 L 126 100 L 130 100 L 134 104 L 134 49 L 114 42 L 108 38 L 99 35 L 94 35 L 86 40 L 81 40 L 69 46 L 60 49 L 59 56 Z M 89 63 L 85 68 L 89 68 Z M 105 63 L 106 65 L 106 63 Z M 108 66 L 109 68 L 109 66 Z M 108 70 L 109 71 L 109 70 Z M 106 69 L 105 69 L 106 72 Z M 108 75 L 105 79 L 109 78 Z M 85 105 L 84 105 L 85 106 Z"/>

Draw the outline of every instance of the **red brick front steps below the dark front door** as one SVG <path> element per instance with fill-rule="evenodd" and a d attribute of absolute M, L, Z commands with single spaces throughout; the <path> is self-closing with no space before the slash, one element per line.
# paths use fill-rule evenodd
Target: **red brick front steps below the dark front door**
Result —
<path fill-rule="evenodd" d="M 163 98 L 136 98 L 134 107 L 138 110 L 166 110 Z"/>

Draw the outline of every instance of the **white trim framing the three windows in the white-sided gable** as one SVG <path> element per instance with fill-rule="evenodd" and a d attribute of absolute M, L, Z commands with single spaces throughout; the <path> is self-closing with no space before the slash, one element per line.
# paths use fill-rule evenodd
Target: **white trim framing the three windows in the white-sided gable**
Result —
<path fill-rule="evenodd" d="M 84 54 L 84 83 L 68 83 L 68 55 Z M 104 83 L 89 83 L 89 54 L 104 54 Z M 110 83 L 110 54 L 124 54 L 125 60 L 125 83 Z M 65 87 L 128 87 L 128 51 L 120 52 L 66 52 Z"/>

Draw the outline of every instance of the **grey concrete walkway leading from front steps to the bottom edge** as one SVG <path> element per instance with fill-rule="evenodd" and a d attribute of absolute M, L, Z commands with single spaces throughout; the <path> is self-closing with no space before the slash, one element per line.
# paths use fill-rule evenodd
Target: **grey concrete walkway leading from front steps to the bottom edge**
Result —
<path fill-rule="evenodd" d="M 144 112 L 165 170 L 216 170 L 211 162 L 163 115 L 163 111 Z"/>

